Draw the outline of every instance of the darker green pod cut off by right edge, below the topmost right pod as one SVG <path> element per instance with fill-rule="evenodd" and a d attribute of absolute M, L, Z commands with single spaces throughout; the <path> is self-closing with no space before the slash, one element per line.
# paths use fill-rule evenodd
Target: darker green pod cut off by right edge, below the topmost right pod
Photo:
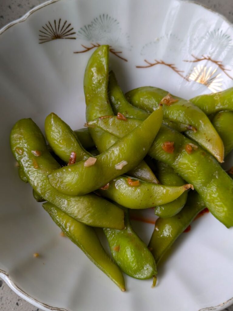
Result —
<path fill-rule="evenodd" d="M 222 138 L 224 144 L 225 156 L 233 149 L 233 112 L 222 111 L 217 113 L 213 120 L 213 126 Z"/>

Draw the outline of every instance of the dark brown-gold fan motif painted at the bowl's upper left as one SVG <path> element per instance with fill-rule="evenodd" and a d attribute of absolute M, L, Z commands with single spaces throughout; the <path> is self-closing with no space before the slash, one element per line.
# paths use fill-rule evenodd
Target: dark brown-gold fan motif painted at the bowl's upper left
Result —
<path fill-rule="evenodd" d="M 39 30 L 39 43 L 45 43 L 56 39 L 76 39 L 73 35 L 76 34 L 75 31 L 73 31 L 74 28 L 71 26 L 71 23 L 67 23 L 67 21 L 64 21 L 64 23 L 61 23 L 61 18 L 57 22 L 54 20 L 53 25 L 48 21 L 45 26 L 42 26 L 42 29 Z"/>

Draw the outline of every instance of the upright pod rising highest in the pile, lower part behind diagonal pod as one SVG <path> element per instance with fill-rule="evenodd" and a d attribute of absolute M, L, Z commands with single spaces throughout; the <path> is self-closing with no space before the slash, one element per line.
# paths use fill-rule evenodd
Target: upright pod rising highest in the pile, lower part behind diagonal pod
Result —
<path fill-rule="evenodd" d="M 109 46 L 102 45 L 90 57 L 84 75 L 84 93 L 86 99 L 86 119 L 91 121 L 102 116 L 113 115 L 113 110 L 108 100 L 108 77 L 109 77 Z M 89 132 L 100 152 L 106 151 L 117 139 L 97 128 L 89 128 Z M 145 173 L 145 162 L 137 165 L 129 174 L 150 181 L 156 180 L 155 175 L 147 166 Z"/>

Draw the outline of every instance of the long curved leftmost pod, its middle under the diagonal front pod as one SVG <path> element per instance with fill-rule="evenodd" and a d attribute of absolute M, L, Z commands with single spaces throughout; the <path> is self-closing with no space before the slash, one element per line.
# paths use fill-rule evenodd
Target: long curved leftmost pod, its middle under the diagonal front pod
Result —
<path fill-rule="evenodd" d="M 21 119 L 11 130 L 11 151 L 23 168 L 30 185 L 45 200 L 87 225 L 123 229 L 124 213 L 114 204 L 95 195 L 67 196 L 56 191 L 47 175 L 60 165 L 47 150 L 45 138 L 32 119 Z"/>

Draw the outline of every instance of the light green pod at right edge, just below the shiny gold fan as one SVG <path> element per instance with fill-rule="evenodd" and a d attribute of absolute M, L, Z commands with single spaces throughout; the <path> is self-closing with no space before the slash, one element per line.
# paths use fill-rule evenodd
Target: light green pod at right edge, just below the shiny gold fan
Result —
<path fill-rule="evenodd" d="M 233 87 L 218 93 L 196 96 L 190 102 L 207 115 L 224 110 L 233 111 Z"/>

